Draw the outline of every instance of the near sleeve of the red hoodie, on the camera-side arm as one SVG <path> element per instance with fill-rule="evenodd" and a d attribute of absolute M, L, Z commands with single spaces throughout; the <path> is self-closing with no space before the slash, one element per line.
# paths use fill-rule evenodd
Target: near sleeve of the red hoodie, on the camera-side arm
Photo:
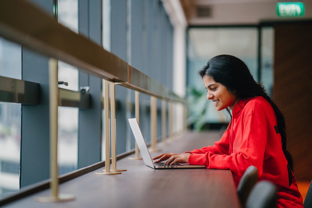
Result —
<path fill-rule="evenodd" d="M 267 129 L 260 117 L 250 114 L 244 120 L 242 143 L 238 152 L 230 155 L 194 152 L 189 157 L 191 165 L 206 165 L 209 169 L 230 169 L 234 175 L 242 176 L 246 168 L 254 165 L 262 175 L 266 150 Z"/>

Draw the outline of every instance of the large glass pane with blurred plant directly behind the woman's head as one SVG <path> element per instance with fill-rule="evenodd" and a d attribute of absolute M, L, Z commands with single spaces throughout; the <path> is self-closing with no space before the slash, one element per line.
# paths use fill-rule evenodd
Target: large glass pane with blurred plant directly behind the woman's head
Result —
<path fill-rule="evenodd" d="M 188 34 L 187 83 L 189 122 L 197 129 L 206 123 L 224 123 L 228 117 L 207 102 L 206 91 L 197 70 L 213 56 L 229 54 L 243 60 L 257 79 L 257 29 L 246 28 L 191 28 Z M 196 100 L 194 102 L 194 100 Z"/>

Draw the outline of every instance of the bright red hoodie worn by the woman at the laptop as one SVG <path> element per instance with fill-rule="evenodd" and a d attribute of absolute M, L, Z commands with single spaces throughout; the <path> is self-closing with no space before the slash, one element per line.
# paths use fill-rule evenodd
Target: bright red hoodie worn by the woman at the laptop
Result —
<path fill-rule="evenodd" d="M 236 187 L 247 167 L 254 165 L 259 181 L 275 183 L 277 207 L 303 207 L 295 177 L 282 151 L 274 110 L 263 97 L 240 100 L 232 111 L 232 125 L 220 141 L 190 153 L 191 165 L 230 169 Z"/>

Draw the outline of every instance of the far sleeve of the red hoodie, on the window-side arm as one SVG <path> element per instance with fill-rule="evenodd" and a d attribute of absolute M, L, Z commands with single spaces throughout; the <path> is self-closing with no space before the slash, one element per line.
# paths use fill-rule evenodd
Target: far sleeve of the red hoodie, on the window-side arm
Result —
<path fill-rule="evenodd" d="M 214 143 L 213 146 L 203 147 L 201 149 L 194 149 L 185 153 L 205 154 L 206 152 L 212 152 L 212 154 L 228 155 L 230 149 L 230 131 L 226 131 L 220 141 Z"/>

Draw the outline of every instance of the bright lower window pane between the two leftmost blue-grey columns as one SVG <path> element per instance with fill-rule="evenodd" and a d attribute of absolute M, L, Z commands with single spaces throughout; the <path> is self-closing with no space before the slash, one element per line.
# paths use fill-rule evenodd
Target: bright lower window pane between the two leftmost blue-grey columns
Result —
<path fill-rule="evenodd" d="M 58 168 L 59 175 L 77 169 L 78 108 L 58 107 Z"/>

